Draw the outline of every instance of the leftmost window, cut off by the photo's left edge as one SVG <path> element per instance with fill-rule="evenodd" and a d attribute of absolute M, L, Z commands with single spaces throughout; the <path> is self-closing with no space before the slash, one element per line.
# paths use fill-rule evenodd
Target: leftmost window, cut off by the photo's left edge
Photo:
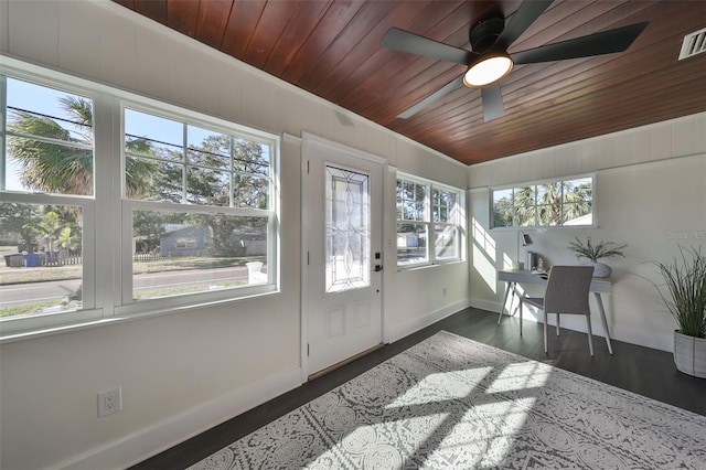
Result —
<path fill-rule="evenodd" d="M 0 321 L 92 309 L 93 99 L 0 76 Z M 0 260 L 0 263 L 2 263 Z"/>

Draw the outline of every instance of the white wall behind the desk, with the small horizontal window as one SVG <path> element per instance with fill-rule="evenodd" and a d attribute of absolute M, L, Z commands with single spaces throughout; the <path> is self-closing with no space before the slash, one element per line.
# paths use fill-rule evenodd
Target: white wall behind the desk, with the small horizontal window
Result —
<path fill-rule="evenodd" d="M 567 249 L 575 236 L 627 243 L 627 259 L 606 260 L 613 267 L 607 303 L 611 334 L 672 351 L 676 324 L 644 278 L 659 284 L 652 261 L 672 260 L 680 245 L 706 250 L 706 114 L 470 167 L 472 303 L 499 311 L 504 284 L 495 280 L 495 269 L 516 254 L 516 229 L 489 229 L 489 188 L 585 173 L 596 175 L 598 226 L 526 231 L 534 239 L 528 249 L 550 265 L 576 264 Z M 596 314 L 592 323 L 602 334 Z M 561 324 L 585 331 L 579 318 Z"/>

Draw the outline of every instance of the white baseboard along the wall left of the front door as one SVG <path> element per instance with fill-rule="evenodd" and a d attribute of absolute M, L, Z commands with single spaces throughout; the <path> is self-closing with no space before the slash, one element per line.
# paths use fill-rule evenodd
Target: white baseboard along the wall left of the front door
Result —
<path fill-rule="evenodd" d="M 93 449 L 57 468 L 107 470 L 130 467 L 300 385 L 301 368 L 292 368 L 188 409 L 99 449 Z"/>

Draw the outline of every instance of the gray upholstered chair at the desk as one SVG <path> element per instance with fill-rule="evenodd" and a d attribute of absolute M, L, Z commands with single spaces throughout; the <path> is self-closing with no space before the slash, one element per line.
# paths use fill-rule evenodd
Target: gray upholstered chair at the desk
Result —
<path fill-rule="evenodd" d="M 547 352 L 547 316 L 556 314 L 556 335 L 559 335 L 560 314 L 582 314 L 588 330 L 588 350 L 593 355 L 591 311 L 588 292 L 593 277 L 592 266 L 554 266 L 549 271 L 544 297 L 520 298 L 520 335 L 522 335 L 522 308 L 530 303 L 544 311 L 544 352 Z"/>

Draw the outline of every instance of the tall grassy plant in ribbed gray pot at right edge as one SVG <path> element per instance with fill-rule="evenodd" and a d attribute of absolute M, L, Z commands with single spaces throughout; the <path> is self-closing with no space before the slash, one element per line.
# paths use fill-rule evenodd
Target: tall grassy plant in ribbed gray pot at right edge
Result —
<path fill-rule="evenodd" d="M 674 364 L 685 374 L 706 378 L 706 256 L 680 246 L 681 259 L 656 263 L 666 292 L 657 292 L 676 320 Z"/>

